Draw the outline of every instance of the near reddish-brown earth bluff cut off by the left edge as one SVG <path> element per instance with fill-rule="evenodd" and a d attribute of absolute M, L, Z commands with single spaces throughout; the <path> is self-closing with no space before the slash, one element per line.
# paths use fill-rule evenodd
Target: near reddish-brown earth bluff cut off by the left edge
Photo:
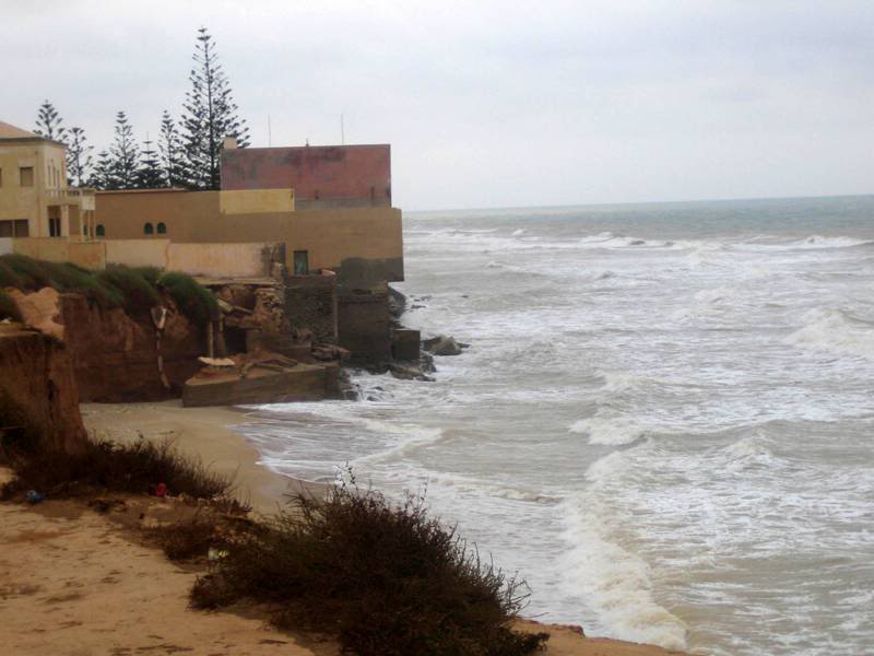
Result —
<path fill-rule="evenodd" d="M 0 325 L 0 427 L 34 429 L 48 444 L 76 453 L 87 440 L 70 352 L 56 338 Z"/>

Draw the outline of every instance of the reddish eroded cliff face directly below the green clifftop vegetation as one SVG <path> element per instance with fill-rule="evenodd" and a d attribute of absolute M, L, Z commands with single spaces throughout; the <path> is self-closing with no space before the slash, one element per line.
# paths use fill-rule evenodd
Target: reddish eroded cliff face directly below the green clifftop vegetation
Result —
<path fill-rule="evenodd" d="M 59 294 L 48 288 L 31 294 L 13 290 L 10 296 L 25 324 L 67 344 L 82 402 L 178 397 L 201 366 L 198 356 L 204 353 L 204 338 L 170 298 L 164 300 L 168 312 L 158 345 L 149 308 L 131 317 L 121 308 L 103 309 L 80 294 Z"/>

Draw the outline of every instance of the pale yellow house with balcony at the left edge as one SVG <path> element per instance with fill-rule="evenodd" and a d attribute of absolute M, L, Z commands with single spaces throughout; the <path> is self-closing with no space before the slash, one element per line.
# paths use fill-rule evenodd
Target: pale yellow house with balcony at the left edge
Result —
<path fill-rule="evenodd" d="M 0 238 L 92 234 L 92 190 L 67 185 L 66 147 L 0 121 Z"/>

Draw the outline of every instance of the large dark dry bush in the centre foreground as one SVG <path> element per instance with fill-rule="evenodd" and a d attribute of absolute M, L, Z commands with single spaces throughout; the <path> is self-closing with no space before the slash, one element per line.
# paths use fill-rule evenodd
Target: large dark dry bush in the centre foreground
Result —
<path fill-rule="evenodd" d="M 509 629 L 524 584 L 429 518 L 422 497 L 394 505 L 343 487 L 293 503 L 231 541 L 194 585 L 196 607 L 268 602 L 280 628 L 338 634 L 361 656 L 517 656 L 547 640 Z"/>

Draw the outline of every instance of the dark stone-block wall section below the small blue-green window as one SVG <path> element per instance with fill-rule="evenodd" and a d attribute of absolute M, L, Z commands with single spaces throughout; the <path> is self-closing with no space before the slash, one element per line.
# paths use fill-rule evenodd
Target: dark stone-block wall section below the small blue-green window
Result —
<path fill-rule="evenodd" d="M 336 276 L 287 277 L 285 316 L 292 330 L 311 330 L 314 341 L 336 343 Z"/>

